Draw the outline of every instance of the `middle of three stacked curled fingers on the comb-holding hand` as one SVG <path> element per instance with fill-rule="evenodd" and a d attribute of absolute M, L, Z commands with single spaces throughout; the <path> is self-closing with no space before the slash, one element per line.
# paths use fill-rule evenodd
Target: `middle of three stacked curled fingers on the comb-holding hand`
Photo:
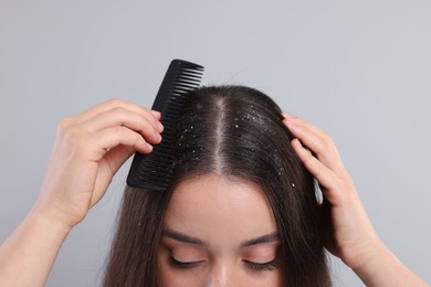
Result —
<path fill-rule="evenodd" d="M 161 136 L 154 123 L 149 123 L 141 115 L 118 107 L 98 114 L 81 125 L 85 125 L 85 129 L 90 132 L 96 132 L 97 130 L 115 126 L 126 126 L 141 134 L 151 144 L 159 144 L 161 140 Z"/>

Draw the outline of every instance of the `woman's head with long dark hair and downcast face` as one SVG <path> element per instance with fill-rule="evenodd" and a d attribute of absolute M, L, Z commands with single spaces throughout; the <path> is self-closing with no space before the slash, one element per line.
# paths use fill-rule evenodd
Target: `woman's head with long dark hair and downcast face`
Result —
<path fill-rule="evenodd" d="M 192 92 L 174 135 L 172 187 L 126 191 L 106 285 L 283 278 L 327 286 L 313 178 L 282 119 L 274 102 L 252 88 Z M 127 279 L 113 280 L 112 273 Z"/>

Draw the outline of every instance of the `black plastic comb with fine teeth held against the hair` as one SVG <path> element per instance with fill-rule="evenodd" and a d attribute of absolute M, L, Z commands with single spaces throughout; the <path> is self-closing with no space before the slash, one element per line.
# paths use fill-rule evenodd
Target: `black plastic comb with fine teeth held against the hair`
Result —
<path fill-rule="evenodd" d="M 148 191 L 162 191 L 170 187 L 175 125 L 187 105 L 186 94 L 199 87 L 202 74 L 200 65 L 182 60 L 170 62 L 151 107 L 161 113 L 160 121 L 165 127 L 162 140 L 148 155 L 135 153 L 127 177 L 129 187 Z"/>

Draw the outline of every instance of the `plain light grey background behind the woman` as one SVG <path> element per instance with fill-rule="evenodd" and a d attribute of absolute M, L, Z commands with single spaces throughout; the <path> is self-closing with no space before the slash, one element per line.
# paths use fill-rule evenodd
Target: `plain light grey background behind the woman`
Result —
<path fill-rule="evenodd" d="M 56 123 L 112 97 L 150 106 L 179 57 L 328 131 L 382 240 L 431 283 L 430 14 L 419 0 L 0 0 L 0 241 L 38 196 Z M 46 286 L 99 284 L 128 164 Z M 362 286 L 333 262 L 336 286 Z"/>

